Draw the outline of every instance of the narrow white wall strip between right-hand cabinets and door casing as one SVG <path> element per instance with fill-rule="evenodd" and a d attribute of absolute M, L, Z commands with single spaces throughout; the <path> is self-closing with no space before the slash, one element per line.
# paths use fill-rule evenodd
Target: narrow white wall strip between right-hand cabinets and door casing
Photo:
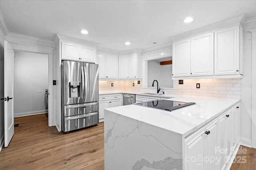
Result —
<path fill-rule="evenodd" d="M 252 33 L 250 29 L 256 28 L 256 23 L 244 28 L 244 78 L 241 80 L 241 138 L 244 142 L 252 140 Z M 255 56 L 254 56 L 255 57 Z M 254 104 L 255 105 L 255 104 Z"/>

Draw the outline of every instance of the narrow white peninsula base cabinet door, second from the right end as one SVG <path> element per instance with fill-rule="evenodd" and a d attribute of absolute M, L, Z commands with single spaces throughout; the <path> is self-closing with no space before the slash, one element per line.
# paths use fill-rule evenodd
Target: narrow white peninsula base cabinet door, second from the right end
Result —
<path fill-rule="evenodd" d="M 232 144 L 232 112 L 229 111 L 227 114 L 226 114 L 226 151 L 227 151 L 227 160 L 226 162 L 230 159 L 230 156 L 232 154 L 232 147 L 233 147 L 233 144 Z"/>

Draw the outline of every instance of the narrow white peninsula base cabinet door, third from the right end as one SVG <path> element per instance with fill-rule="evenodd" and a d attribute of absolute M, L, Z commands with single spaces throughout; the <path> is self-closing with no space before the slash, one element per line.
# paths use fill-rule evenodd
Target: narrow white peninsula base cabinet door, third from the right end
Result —
<path fill-rule="evenodd" d="M 220 160 L 219 168 L 223 170 L 226 166 L 226 113 L 219 116 L 218 123 L 218 159 Z"/>

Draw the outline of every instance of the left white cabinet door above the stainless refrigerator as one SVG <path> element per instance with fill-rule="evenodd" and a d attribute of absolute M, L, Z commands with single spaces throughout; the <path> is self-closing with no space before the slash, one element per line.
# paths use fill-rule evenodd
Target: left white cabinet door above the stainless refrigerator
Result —
<path fill-rule="evenodd" d="M 62 53 L 61 58 L 67 60 L 75 60 L 79 61 L 80 54 L 79 54 L 79 46 L 70 44 L 70 43 L 61 43 L 62 44 Z"/>

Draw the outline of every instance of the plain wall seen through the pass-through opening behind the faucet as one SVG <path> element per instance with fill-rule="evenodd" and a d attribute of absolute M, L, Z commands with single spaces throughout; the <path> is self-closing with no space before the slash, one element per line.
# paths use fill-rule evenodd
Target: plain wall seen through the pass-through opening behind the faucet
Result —
<path fill-rule="evenodd" d="M 160 65 L 159 61 L 148 61 L 148 87 L 152 87 L 154 80 L 157 80 L 158 86 L 162 88 L 173 88 L 172 64 Z"/>

